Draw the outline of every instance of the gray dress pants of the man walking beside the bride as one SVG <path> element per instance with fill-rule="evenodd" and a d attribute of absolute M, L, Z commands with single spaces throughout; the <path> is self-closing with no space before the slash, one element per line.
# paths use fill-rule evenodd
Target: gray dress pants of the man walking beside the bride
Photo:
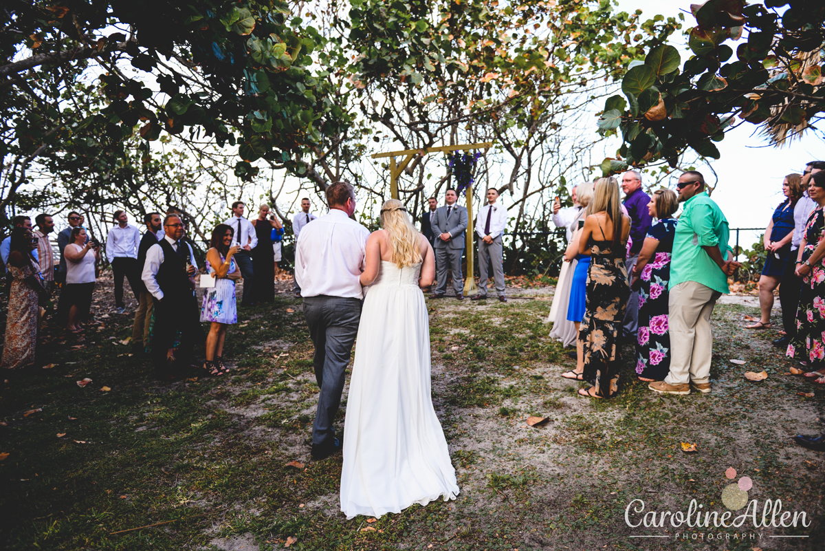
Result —
<path fill-rule="evenodd" d="M 341 405 L 344 371 L 361 320 L 361 299 L 319 295 L 304 297 L 304 318 L 315 346 L 313 365 L 321 393 L 312 429 L 314 446 L 332 445 L 332 421 Z"/>

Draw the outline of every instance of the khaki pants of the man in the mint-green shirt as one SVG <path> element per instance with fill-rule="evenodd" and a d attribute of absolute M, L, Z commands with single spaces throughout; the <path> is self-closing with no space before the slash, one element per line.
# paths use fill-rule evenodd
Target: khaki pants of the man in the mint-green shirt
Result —
<path fill-rule="evenodd" d="M 685 281 L 670 290 L 667 314 L 671 337 L 671 370 L 667 384 L 707 383 L 710 359 L 714 351 L 714 336 L 710 331 L 710 314 L 719 297 L 714 291 L 695 281 Z"/>

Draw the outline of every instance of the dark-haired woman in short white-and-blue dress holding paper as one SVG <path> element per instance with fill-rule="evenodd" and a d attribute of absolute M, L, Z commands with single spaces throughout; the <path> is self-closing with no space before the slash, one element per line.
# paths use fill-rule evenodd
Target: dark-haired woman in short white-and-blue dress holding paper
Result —
<path fill-rule="evenodd" d="M 229 370 L 224 365 L 224 338 L 226 326 L 238 323 L 238 303 L 235 299 L 235 280 L 241 272 L 233 260 L 240 247 L 232 244 L 234 230 L 218 224 L 212 230 L 210 249 L 206 251 L 206 273 L 214 277 L 214 287 L 207 288 L 200 308 L 200 321 L 210 322 L 206 336 L 206 361 L 203 369 L 210 375 L 222 375 Z"/>

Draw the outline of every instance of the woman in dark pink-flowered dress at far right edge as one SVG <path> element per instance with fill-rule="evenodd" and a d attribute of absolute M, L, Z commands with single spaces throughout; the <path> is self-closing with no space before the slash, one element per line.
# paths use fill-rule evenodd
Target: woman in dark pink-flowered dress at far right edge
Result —
<path fill-rule="evenodd" d="M 786 355 L 810 366 L 806 377 L 825 384 L 825 171 L 811 177 L 808 195 L 818 206 L 808 216 L 799 243 L 796 275 L 802 278 L 802 294 L 796 310 L 796 336 L 791 338 Z"/>

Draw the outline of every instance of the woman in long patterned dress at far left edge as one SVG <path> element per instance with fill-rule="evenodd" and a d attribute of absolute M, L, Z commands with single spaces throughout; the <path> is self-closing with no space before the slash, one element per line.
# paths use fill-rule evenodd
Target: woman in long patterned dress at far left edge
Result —
<path fill-rule="evenodd" d="M 38 296 L 45 292 L 40 265 L 32 252 L 38 238 L 31 229 L 17 227 L 9 236 L 7 273 L 12 278 L 8 295 L 6 336 L 0 367 L 13 370 L 31 365 L 37 345 Z"/>

